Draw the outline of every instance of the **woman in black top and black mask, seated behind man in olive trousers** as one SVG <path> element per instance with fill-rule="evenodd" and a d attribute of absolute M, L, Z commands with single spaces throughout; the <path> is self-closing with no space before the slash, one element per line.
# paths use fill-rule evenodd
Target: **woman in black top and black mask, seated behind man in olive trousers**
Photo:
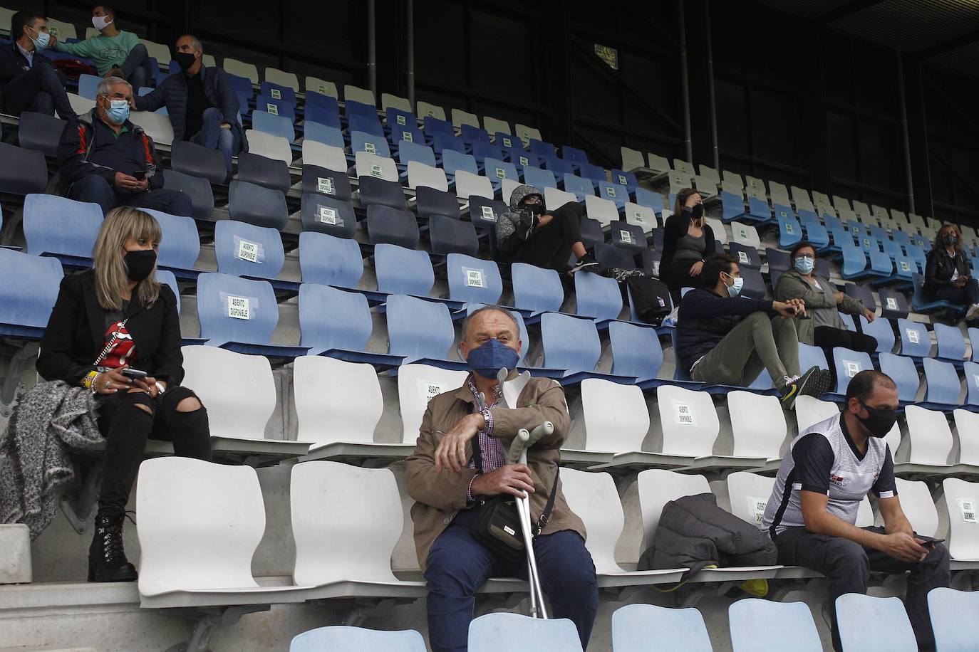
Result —
<path fill-rule="evenodd" d="M 676 193 L 674 214 L 663 227 L 660 279 L 670 288 L 674 304 L 683 287 L 698 287 L 704 259 L 714 253 L 714 231 L 704 222 L 700 193 L 684 188 Z"/>

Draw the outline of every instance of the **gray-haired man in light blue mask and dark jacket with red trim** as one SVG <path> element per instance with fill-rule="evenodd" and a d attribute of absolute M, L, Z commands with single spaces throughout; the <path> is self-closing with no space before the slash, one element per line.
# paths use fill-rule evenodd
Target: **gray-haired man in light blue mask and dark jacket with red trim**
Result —
<path fill-rule="evenodd" d="M 132 86 L 107 77 L 96 89 L 95 109 L 65 126 L 58 146 L 59 190 L 107 213 L 116 206 L 191 215 L 190 197 L 163 188 L 153 139 L 129 121 Z"/>

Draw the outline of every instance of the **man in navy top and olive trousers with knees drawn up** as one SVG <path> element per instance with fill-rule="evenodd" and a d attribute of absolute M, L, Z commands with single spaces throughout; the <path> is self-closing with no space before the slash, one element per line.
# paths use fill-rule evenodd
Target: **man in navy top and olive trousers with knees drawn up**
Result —
<path fill-rule="evenodd" d="M 806 315 L 802 299 L 748 299 L 741 293 L 741 271 L 734 257 L 708 256 L 700 273 L 703 286 L 680 300 L 676 322 L 677 364 L 699 382 L 747 387 L 768 369 L 791 410 L 797 397 L 819 396 L 832 381 L 829 371 L 799 372 L 795 318 Z"/>

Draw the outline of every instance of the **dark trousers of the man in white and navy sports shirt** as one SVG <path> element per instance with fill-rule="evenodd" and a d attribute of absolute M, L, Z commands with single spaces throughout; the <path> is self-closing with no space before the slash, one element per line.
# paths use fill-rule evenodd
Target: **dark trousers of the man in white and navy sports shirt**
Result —
<path fill-rule="evenodd" d="M 883 528 L 863 528 L 870 532 L 884 533 Z M 918 537 L 918 535 L 914 535 Z M 928 540 L 929 537 L 918 537 Z M 822 573 L 829 580 L 829 613 L 833 630 L 833 649 L 839 652 L 840 633 L 836 626 L 836 598 L 845 593 L 866 594 L 870 571 L 901 575 L 910 571 L 905 608 L 919 650 L 935 649 L 935 634 L 928 616 L 928 591 L 937 587 L 949 587 L 949 550 L 942 543 L 922 562 L 899 561 L 880 550 L 864 547 L 841 537 L 817 535 L 806 528 L 787 528 L 775 538 L 778 563 L 786 566 L 802 566 Z"/>

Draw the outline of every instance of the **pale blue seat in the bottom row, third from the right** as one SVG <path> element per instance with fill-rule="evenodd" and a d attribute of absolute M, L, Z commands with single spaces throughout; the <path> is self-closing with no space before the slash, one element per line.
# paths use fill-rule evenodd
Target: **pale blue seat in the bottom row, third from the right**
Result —
<path fill-rule="evenodd" d="M 813 613 L 805 602 L 749 597 L 727 608 L 727 620 L 732 652 L 778 652 L 787 641 L 792 641 L 793 652 L 822 651 Z"/>

